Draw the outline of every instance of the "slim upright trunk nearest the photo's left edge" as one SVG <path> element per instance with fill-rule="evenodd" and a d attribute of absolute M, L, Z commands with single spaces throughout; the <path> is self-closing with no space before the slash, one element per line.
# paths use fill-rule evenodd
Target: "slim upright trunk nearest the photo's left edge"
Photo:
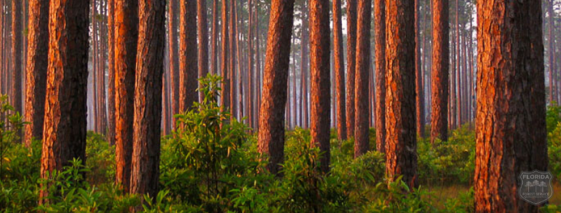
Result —
<path fill-rule="evenodd" d="M 22 20 L 22 8 L 21 0 L 12 1 L 12 106 L 18 113 L 23 113 L 21 106 L 21 51 L 22 46 L 22 31 L 21 20 Z M 21 137 L 21 130 L 18 130 L 17 137 Z M 17 142 L 21 142 L 17 139 Z"/>

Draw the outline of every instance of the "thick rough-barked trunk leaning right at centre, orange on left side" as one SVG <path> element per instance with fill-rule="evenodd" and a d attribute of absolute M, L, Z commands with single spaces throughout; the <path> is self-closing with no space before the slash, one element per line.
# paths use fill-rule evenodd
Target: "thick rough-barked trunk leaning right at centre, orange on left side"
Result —
<path fill-rule="evenodd" d="M 272 1 L 259 116 L 259 152 L 270 156 L 267 169 L 274 174 L 281 171 L 285 157 L 285 106 L 293 10 L 294 0 Z"/>

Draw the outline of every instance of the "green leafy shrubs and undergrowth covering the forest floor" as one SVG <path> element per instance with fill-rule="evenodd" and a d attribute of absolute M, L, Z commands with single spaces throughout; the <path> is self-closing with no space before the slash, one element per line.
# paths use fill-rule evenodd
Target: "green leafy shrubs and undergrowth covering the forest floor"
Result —
<path fill-rule="evenodd" d="M 160 192 L 129 195 L 114 184 L 115 151 L 105 137 L 88 132 L 86 165 L 72 166 L 40 179 L 41 143 L 30 148 L 15 143 L 21 117 L 1 99 L 0 211 L 2 212 L 127 212 L 142 205 L 145 212 L 473 212 L 475 134 L 473 124 L 454 130 L 448 141 L 418 140 L 419 188 L 387 182 L 384 155 L 371 151 L 353 158 L 354 142 L 339 141 L 332 131 L 331 170 L 319 171 L 317 148 L 310 147 L 309 131 L 287 131 L 281 177 L 265 169 L 266 156 L 257 152 L 257 138 L 242 122 L 231 120 L 218 106 L 218 78 L 202 80 L 205 100 L 196 110 L 177 115 L 177 131 L 162 137 Z M 561 108 L 547 114 L 549 164 L 561 177 Z M 81 175 L 85 174 L 85 175 Z M 41 183 L 59 190 L 49 205 L 38 205 Z M 442 200 L 431 188 L 468 188 Z M 410 193 L 404 193 L 409 191 Z M 148 199 L 152 197 L 153 199 Z M 550 203 L 543 212 L 559 212 Z"/>

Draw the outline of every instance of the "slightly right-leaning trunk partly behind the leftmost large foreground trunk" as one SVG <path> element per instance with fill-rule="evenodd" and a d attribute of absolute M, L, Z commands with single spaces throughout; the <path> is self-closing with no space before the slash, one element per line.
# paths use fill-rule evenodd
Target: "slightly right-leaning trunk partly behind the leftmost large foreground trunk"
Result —
<path fill-rule="evenodd" d="M 27 28 L 27 83 L 25 101 L 25 146 L 31 140 L 42 139 L 47 66 L 49 65 L 49 1 L 29 2 L 29 26 Z"/>

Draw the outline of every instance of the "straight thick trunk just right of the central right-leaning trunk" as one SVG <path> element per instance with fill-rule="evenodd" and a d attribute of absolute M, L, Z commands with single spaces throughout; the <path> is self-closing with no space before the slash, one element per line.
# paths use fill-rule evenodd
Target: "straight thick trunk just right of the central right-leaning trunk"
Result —
<path fill-rule="evenodd" d="M 311 145 L 323 152 L 321 169 L 329 171 L 329 94 L 330 87 L 330 38 L 329 38 L 329 1 L 309 0 L 310 6 L 310 74 L 311 74 Z"/>

